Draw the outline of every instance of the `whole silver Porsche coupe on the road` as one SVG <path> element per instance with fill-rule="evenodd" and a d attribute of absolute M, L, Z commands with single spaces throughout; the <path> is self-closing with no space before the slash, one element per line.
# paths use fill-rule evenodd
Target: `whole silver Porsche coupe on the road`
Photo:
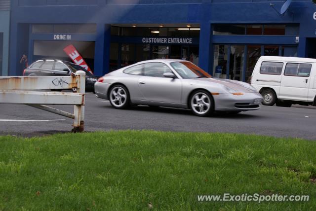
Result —
<path fill-rule="evenodd" d="M 94 84 L 98 98 L 115 108 L 130 105 L 189 108 L 198 116 L 260 108 L 262 96 L 250 84 L 212 78 L 191 62 L 148 60 L 110 72 Z"/>

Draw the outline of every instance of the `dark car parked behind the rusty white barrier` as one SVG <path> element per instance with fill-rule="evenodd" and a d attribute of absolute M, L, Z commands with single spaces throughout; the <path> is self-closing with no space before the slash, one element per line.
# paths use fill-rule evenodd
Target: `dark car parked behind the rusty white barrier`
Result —
<path fill-rule="evenodd" d="M 97 76 L 91 74 L 79 65 L 71 62 L 42 59 L 32 63 L 23 71 L 24 76 L 69 76 L 76 71 L 85 71 L 85 91 L 94 92 L 94 83 L 97 81 Z"/>

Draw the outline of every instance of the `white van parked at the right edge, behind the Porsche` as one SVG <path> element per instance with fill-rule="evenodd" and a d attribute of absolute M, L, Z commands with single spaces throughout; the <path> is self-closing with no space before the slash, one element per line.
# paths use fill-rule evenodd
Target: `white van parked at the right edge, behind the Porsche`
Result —
<path fill-rule="evenodd" d="M 316 59 L 262 56 L 250 81 L 265 106 L 316 106 Z"/>

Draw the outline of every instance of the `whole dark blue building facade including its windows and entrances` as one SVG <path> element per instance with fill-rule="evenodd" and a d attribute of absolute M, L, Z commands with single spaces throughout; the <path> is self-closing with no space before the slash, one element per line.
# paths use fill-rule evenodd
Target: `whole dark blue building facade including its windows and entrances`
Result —
<path fill-rule="evenodd" d="M 96 75 L 155 58 L 190 60 L 246 81 L 261 55 L 316 58 L 311 0 L 15 0 L 9 74 L 23 54 L 69 60 L 74 45 Z"/>

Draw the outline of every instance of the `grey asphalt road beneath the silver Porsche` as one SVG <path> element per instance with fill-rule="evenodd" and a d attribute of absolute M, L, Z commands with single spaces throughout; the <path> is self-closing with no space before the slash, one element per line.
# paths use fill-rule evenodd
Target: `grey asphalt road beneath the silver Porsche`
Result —
<path fill-rule="evenodd" d="M 73 106 L 55 107 L 73 112 Z M 316 140 L 316 109 L 313 108 L 262 106 L 256 111 L 234 115 L 197 117 L 185 109 L 136 106 L 117 110 L 109 102 L 89 93 L 86 95 L 84 123 L 85 131 L 147 129 L 227 132 Z M 72 123 L 71 119 L 30 106 L 0 104 L 0 135 L 32 137 L 64 133 L 71 131 Z"/>

